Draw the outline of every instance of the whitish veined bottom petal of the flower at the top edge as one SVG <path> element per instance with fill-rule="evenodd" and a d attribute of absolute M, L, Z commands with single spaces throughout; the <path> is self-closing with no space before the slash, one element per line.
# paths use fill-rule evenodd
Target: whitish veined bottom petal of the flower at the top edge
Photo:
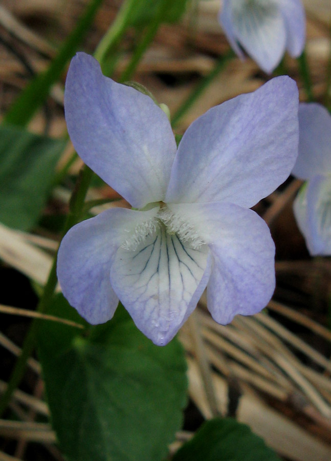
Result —
<path fill-rule="evenodd" d="M 259 67 L 271 73 L 279 64 L 286 44 L 285 23 L 277 1 L 236 0 L 227 2 L 223 8 L 227 29 Z"/>

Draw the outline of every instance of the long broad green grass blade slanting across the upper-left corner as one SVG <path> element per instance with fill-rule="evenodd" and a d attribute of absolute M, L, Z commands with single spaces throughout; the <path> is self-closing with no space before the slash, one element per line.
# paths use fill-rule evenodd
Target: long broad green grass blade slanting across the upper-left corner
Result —
<path fill-rule="evenodd" d="M 57 56 L 46 72 L 37 75 L 20 93 L 12 107 L 4 117 L 4 123 L 12 123 L 24 127 L 36 110 L 47 98 L 51 86 L 60 78 L 67 62 L 73 57 L 78 45 L 89 31 L 102 0 L 92 0 L 79 19 L 77 26 L 64 41 Z"/>

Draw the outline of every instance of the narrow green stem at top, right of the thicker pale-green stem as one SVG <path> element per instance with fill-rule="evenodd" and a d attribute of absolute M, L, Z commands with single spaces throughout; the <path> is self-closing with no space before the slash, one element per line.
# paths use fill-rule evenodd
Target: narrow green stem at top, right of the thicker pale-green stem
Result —
<path fill-rule="evenodd" d="M 154 20 L 148 26 L 147 31 L 143 35 L 143 38 L 138 43 L 138 46 L 135 49 L 135 52 L 131 58 L 129 65 L 121 75 L 120 81 L 130 80 L 130 78 L 134 74 L 139 61 L 143 57 L 144 52 L 146 51 L 148 45 L 151 43 L 152 39 L 155 37 L 168 8 L 168 2 L 167 0 L 164 0 L 159 6 Z"/>

